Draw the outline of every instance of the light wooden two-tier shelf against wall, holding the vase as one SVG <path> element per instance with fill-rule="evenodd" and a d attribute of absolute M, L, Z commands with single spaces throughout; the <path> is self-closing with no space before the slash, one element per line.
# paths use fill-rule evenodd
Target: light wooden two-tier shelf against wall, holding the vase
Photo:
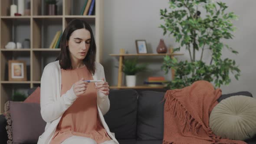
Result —
<path fill-rule="evenodd" d="M 167 53 L 146 53 L 146 54 L 126 54 L 125 53 L 125 49 L 120 49 L 120 53 L 119 54 L 109 54 L 109 56 L 118 56 L 119 57 L 119 66 L 118 66 L 118 85 L 117 86 L 110 86 L 110 88 L 112 89 L 125 89 L 125 88 L 131 88 L 131 89 L 155 89 L 155 88 L 164 88 L 164 86 L 158 86 L 158 87 L 153 87 L 153 86 L 135 86 L 135 87 L 127 87 L 127 86 L 122 86 L 122 63 L 123 60 L 125 58 L 125 56 L 170 56 L 171 59 L 174 58 L 174 56 L 182 56 L 184 54 L 182 53 L 173 53 L 173 49 L 168 49 Z M 174 78 L 174 69 L 171 69 L 171 77 Z"/>

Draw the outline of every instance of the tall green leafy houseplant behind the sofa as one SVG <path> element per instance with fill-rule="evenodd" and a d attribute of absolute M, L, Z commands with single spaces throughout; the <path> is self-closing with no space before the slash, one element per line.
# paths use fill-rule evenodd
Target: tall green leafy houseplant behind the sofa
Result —
<path fill-rule="evenodd" d="M 169 0 L 170 12 L 160 10 L 164 25 L 164 35 L 168 32 L 176 42 L 180 43 L 175 51 L 185 48 L 189 52 L 189 61 L 177 61 L 164 57 L 162 69 L 167 73 L 170 68 L 175 70 L 175 78 L 168 88 L 183 88 L 198 80 L 213 82 L 216 87 L 230 83 L 230 72 L 238 80 L 240 69 L 234 60 L 222 58 L 222 50 L 238 52 L 223 43 L 223 39 L 232 39 L 235 27 L 232 20 L 237 16 L 226 13 L 226 4 L 211 0 Z M 205 13 L 205 16 L 200 16 Z M 205 50 L 211 52 L 211 60 L 203 62 Z M 196 54 L 199 56 L 196 57 Z"/>

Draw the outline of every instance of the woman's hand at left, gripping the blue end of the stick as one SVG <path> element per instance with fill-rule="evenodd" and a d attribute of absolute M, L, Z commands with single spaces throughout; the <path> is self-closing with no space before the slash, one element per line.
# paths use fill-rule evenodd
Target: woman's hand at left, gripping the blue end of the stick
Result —
<path fill-rule="evenodd" d="M 84 78 L 82 78 L 78 82 L 75 82 L 75 84 L 73 85 L 73 91 L 75 95 L 81 96 L 82 94 L 84 94 L 88 84 L 89 82 L 84 82 Z"/>

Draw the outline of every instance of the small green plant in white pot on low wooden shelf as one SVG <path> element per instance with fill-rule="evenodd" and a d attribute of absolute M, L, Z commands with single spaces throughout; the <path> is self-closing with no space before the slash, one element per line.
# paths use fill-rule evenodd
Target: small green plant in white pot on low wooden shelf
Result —
<path fill-rule="evenodd" d="M 125 73 L 126 86 L 134 87 L 136 85 L 136 73 L 146 69 L 146 64 L 138 65 L 137 59 L 125 59 L 122 71 Z"/>

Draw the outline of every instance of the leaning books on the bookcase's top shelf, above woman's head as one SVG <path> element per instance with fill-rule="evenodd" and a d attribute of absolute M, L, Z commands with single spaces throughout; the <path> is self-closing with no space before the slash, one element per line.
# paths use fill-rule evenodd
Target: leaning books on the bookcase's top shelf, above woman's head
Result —
<path fill-rule="evenodd" d="M 80 15 L 82 16 L 91 16 L 95 13 L 95 0 L 85 0 L 85 4 L 82 7 Z"/>

